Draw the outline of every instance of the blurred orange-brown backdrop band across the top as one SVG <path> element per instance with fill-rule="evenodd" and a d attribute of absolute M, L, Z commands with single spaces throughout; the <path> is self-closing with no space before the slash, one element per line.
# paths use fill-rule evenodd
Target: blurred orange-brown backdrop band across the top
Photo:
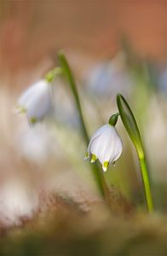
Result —
<path fill-rule="evenodd" d="M 124 36 L 140 55 L 164 61 L 166 16 L 164 0 L 1 0 L 1 76 L 49 67 L 48 58 L 57 49 L 89 61 L 112 56 Z"/>

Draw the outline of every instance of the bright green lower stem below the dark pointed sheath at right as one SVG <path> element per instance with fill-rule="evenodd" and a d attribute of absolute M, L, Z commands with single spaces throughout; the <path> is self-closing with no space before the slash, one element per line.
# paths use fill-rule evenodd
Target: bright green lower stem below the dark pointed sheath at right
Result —
<path fill-rule="evenodd" d="M 145 188 L 145 195 L 146 195 L 146 200 L 147 200 L 148 211 L 153 212 L 153 198 L 152 198 L 149 176 L 148 176 L 148 171 L 147 171 L 147 163 L 146 163 L 145 158 L 142 158 L 139 160 L 140 160 L 140 165 L 141 165 L 141 174 L 142 174 L 142 179 L 143 179 L 144 188 Z"/>

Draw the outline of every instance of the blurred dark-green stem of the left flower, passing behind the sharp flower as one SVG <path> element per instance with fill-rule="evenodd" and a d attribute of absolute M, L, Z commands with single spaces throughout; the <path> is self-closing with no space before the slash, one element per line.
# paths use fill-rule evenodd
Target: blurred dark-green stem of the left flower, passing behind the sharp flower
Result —
<path fill-rule="evenodd" d="M 84 139 L 86 145 L 88 145 L 89 144 L 89 135 L 88 135 L 86 125 L 84 123 L 81 103 L 79 100 L 78 90 L 77 90 L 77 86 L 75 83 L 75 79 L 72 74 L 72 70 L 68 64 L 68 61 L 66 60 L 66 56 L 63 55 L 62 52 L 60 52 L 58 54 L 58 58 L 60 61 L 60 67 L 62 68 L 62 72 L 66 76 L 66 79 L 67 79 L 70 89 L 72 91 L 72 95 L 75 100 L 76 108 L 78 109 L 78 116 L 79 116 L 80 125 L 81 125 L 81 129 L 82 129 L 83 139 Z M 108 187 L 107 187 L 107 183 L 106 183 L 105 177 L 103 175 L 103 172 L 101 172 L 101 169 L 99 168 L 99 166 L 97 166 L 97 164 L 91 165 L 91 169 L 94 173 L 95 181 L 96 181 L 96 184 L 98 185 L 98 189 L 99 189 L 101 195 L 107 201 Z"/>

